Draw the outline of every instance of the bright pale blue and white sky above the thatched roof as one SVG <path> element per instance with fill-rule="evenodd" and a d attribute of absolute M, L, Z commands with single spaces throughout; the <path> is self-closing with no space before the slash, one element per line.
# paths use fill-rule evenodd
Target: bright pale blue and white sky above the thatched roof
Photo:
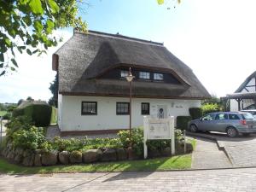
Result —
<path fill-rule="evenodd" d="M 79 13 L 90 30 L 164 43 L 188 65 L 208 92 L 233 93 L 256 70 L 256 1 L 254 0 L 90 0 Z M 174 8 L 175 7 L 175 8 Z M 73 30 L 55 35 L 64 42 Z M 17 55 L 18 71 L 0 77 L 0 102 L 32 96 L 48 101 L 55 77 L 51 57 Z"/>

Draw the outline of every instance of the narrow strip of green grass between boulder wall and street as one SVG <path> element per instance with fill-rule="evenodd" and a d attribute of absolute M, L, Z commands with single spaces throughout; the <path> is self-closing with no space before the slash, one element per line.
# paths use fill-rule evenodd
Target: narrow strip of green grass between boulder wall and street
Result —
<path fill-rule="evenodd" d="M 189 169 L 191 154 L 177 155 L 151 160 L 131 160 L 96 164 L 80 164 L 74 166 L 41 166 L 25 167 L 10 164 L 0 158 L 0 172 L 9 174 L 57 173 L 57 172 L 143 172 Z"/>

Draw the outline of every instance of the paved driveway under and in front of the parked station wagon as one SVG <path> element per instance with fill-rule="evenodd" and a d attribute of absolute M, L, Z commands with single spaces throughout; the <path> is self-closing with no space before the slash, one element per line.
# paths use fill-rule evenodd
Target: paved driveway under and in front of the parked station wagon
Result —
<path fill-rule="evenodd" d="M 216 140 L 233 166 L 256 166 L 256 135 L 230 138 L 221 133 L 196 133 L 196 136 Z"/>

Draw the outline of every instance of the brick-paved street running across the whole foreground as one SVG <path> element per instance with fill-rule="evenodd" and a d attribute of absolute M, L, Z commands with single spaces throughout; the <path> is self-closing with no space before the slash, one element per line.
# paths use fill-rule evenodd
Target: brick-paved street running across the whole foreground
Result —
<path fill-rule="evenodd" d="M 0 191 L 256 191 L 256 169 L 0 175 Z"/>

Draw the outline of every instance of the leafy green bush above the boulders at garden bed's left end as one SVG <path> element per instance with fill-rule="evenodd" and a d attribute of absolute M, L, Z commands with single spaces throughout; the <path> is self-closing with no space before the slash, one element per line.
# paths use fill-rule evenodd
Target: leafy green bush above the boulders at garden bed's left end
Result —
<path fill-rule="evenodd" d="M 40 149 L 45 143 L 43 129 L 31 126 L 28 130 L 15 131 L 13 134 L 13 143 L 15 147 L 24 149 Z"/>

